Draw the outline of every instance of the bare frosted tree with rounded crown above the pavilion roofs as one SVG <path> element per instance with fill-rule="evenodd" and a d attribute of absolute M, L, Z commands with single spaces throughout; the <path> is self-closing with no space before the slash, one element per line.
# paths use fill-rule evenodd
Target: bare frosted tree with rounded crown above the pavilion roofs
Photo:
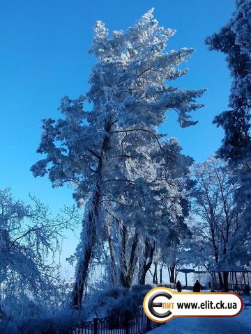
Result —
<path fill-rule="evenodd" d="M 193 262 L 218 270 L 220 284 L 227 287 L 227 271 L 250 260 L 250 230 L 234 199 L 238 183 L 227 164 L 215 157 L 196 164 L 194 177 L 193 211 L 198 218 L 191 225 Z M 223 277 L 220 271 L 225 271 Z"/>

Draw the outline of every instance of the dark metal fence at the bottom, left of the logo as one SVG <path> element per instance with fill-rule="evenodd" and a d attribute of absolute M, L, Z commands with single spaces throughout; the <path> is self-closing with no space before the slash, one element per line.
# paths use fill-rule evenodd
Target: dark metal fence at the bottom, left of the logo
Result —
<path fill-rule="evenodd" d="M 160 326 L 146 317 L 143 308 L 102 319 L 95 318 L 59 331 L 59 334 L 143 334 Z"/>

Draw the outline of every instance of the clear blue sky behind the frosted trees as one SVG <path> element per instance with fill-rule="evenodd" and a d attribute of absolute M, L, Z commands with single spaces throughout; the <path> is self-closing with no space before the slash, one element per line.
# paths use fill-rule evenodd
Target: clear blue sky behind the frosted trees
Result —
<path fill-rule="evenodd" d="M 1 0 L 0 189 L 10 186 L 24 200 L 31 192 L 54 212 L 73 203 L 70 189 L 52 189 L 46 177 L 35 179 L 29 171 L 40 159 L 40 120 L 59 116 L 63 95 L 75 98 L 89 89 L 94 22 L 126 29 L 151 7 L 161 26 L 177 30 L 168 49 L 195 48 L 178 86 L 208 88 L 201 99 L 206 106 L 194 113 L 199 124 L 181 129 L 170 113 L 162 132 L 176 136 L 196 161 L 215 152 L 222 130 L 211 122 L 227 109 L 230 78 L 224 56 L 208 51 L 204 39 L 228 21 L 234 0 Z M 75 238 L 66 241 L 67 255 L 75 244 Z"/>

